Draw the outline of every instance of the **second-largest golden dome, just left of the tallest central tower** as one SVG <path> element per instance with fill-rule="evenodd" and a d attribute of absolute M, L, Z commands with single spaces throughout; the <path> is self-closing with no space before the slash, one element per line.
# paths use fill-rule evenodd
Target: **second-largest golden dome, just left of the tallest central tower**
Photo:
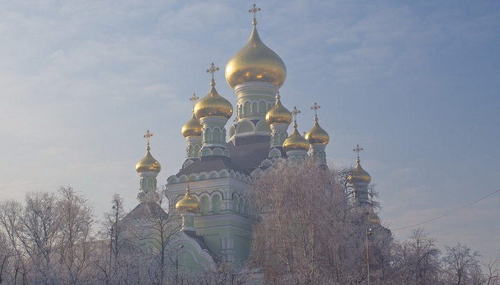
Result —
<path fill-rule="evenodd" d="M 194 116 L 197 119 L 207 116 L 224 116 L 229 119 L 233 115 L 233 105 L 217 93 L 214 85 L 215 83 L 212 83 L 210 92 L 194 105 Z"/>

